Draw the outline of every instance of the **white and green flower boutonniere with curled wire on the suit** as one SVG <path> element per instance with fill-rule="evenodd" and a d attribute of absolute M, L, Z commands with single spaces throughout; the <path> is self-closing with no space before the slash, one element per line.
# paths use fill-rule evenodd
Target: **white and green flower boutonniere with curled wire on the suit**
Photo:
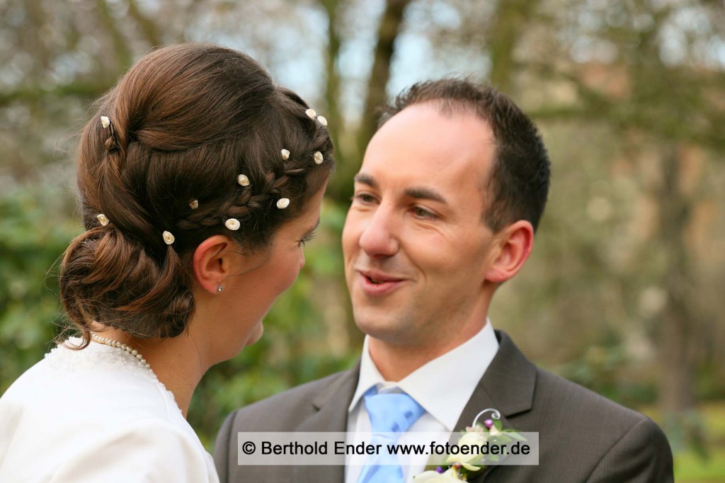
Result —
<path fill-rule="evenodd" d="M 479 423 L 479 417 L 489 411 L 492 412 L 491 418 Z M 450 447 L 450 453 L 443 455 L 443 463 L 434 471 L 423 471 L 414 476 L 415 483 L 465 482 L 483 471 L 486 463 L 505 458 L 502 452 L 493 448 L 500 449 L 513 441 L 526 441 L 526 438 L 513 429 L 504 429 L 500 419 L 498 410 L 482 410 L 473 419 L 473 424 L 461 432 L 458 442 Z"/>

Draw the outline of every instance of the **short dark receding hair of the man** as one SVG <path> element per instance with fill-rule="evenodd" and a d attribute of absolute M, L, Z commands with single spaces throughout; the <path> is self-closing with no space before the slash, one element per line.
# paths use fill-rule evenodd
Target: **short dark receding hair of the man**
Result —
<path fill-rule="evenodd" d="M 432 102 L 444 114 L 472 112 L 494 133 L 494 167 L 486 182 L 484 223 L 494 232 L 517 220 L 534 227 L 544 212 L 551 162 L 536 125 L 519 107 L 492 86 L 465 78 L 416 83 L 384 109 L 378 128 L 413 104 Z"/>

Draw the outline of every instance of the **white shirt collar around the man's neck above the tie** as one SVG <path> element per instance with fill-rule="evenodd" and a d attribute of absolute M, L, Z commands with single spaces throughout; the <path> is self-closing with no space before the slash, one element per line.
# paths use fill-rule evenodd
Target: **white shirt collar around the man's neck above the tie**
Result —
<path fill-rule="evenodd" d="M 378 392 L 407 392 L 426 412 L 452 431 L 497 350 L 496 334 L 491 321 L 486 319 L 486 325 L 471 339 L 396 383 L 386 381 L 378 371 L 370 358 L 366 336 L 360 359 L 360 377 L 348 412 L 357 407 L 370 387 L 376 386 Z"/>

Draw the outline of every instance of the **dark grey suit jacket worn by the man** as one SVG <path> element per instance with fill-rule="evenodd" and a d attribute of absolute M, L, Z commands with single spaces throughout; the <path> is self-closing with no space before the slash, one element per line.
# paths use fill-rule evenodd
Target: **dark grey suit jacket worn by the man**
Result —
<path fill-rule="evenodd" d="M 649 418 L 537 368 L 502 331 L 499 350 L 455 431 L 485 408 L 505 428 L 539 432 L 538 466 L 489 466 L 473 483 L 673 482 L 672 453 Z M 238 466 L 237 432 L 345 432 L 360 367 L 236 410 L 220 429 L 214 459 L 223 483 L 342 483 L 343 466 Z"/>

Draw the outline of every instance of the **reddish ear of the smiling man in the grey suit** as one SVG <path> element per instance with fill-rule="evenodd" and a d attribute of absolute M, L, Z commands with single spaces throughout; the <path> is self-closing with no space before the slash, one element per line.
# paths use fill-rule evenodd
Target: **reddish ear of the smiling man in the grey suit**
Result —
<path fill-rule="evenodd" d="M 494 240 L 486 280 L 501 283 L 518 273 L 529 258 L 534 247 L 534 228 L 528 221 L 518 220 L 495 234 Z"/>

